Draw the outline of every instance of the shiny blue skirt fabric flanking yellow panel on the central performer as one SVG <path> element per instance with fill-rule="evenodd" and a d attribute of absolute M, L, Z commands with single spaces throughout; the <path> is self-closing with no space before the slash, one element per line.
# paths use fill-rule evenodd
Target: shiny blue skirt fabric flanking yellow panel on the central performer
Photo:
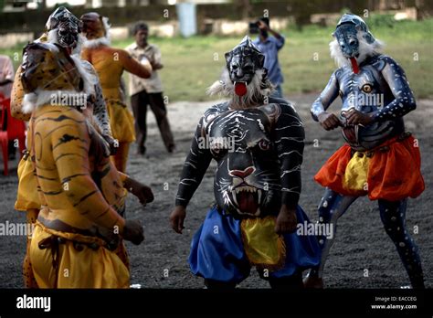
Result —
<path fill-rule="evenodd" d="M 298 224 L 310 222 L 299 206 L 296 217 Z M 195 275 L 236 283 L 248 277 L 251 265 L 244 249 L 240 223 L 241 220 L 218 212 L 216 207 L 210 208 L 191 243 L 189 265 Z M 283 238 L 285 262 L 279 270 L 270 271 L 269 277 L 291 276 L 319 265 L 321 249 L 315 236 L 300 236 L 294 232 L 285 234 Z"/>

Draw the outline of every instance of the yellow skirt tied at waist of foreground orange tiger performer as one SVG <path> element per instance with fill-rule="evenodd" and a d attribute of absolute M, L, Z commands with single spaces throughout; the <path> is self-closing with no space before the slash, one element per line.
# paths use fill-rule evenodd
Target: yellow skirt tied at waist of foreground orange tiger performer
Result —
<path fill-rule="evenodd" d="M 51 232 L 51 233 L 50 233 Z M 58 244 L 58 270 L 53 267 L 52 249 L 39 249 L 39 242 L 52 235 L 39 223 L 33 233 L 30 260 L 39 288 L 129 288 L 130 273 L 121 259 L 109 249 L 90 249 L 81 244 L 74 247 L 67 239 Z M 57 232 L 62 237 L 77 236 Z"/>

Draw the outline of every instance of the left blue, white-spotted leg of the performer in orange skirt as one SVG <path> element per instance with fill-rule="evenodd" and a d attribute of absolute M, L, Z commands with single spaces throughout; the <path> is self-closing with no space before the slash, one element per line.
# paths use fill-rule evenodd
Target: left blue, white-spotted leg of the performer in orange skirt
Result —
<path fill-rule="evenodd" d="M 305 281 L 306 287 L 322 287 L 322 273 L 335 239 L 337 220 L 343 216 L 344 212 L 354 203 L 357 197 L 358 196 L 342 196 L 330 188 L 326 188 L 318 209 L 319 223 L 329 224 L 329 229 L 332 230 L 332 233 L 328 233 L 329 237 L 326 235 L 318 237 L 319 245 L 322 249 L 322 258 L 319 266 L 310 270 L 309 278 Z"/>

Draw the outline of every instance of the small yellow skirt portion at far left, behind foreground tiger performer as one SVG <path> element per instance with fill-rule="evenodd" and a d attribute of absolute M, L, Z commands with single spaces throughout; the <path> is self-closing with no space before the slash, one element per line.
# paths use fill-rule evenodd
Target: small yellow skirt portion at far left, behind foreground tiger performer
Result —
<path fill-rule="evenodd" d="M 18 164 L 18 190 L 16 192 L 15 209 L 26 211 L 30 208 L 40 208 L 37 194 L 37 179 L 33 175 L 33 164 L 30 158 L 21 159 Z"/>

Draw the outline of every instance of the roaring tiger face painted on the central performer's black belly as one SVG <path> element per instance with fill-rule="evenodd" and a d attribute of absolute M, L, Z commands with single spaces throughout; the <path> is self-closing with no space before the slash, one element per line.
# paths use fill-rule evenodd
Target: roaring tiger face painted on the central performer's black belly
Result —
<path fill-rule="evenodd" d="M 279 210 L 280 166 L 269 129 L 269 117 L 259 109 L 227 111 L 206 127 L 217 162 L 216 203 L 228 213 L 259 217 Z"/>

